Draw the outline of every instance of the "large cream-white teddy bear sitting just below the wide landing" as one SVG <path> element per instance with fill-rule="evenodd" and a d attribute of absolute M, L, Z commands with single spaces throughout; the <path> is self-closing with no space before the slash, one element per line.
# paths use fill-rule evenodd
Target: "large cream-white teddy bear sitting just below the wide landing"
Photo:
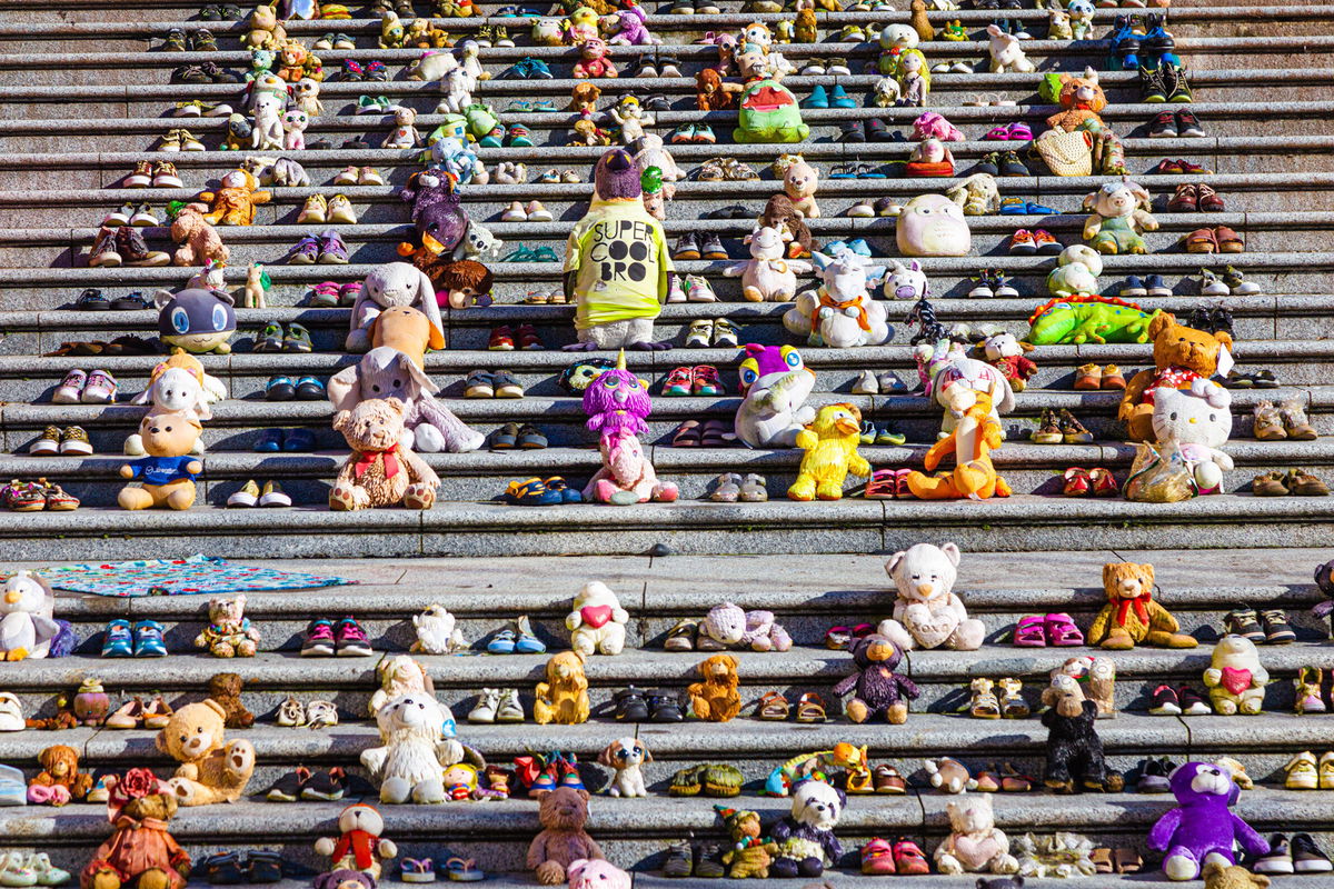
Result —
<path fill-rule="evenodd" d="M 884 572 L 894 581 L 898 597 L 891 617 L 876 632 L 899 649 L 952 648 L 971 652 L 982 646 L 986 628 L 970 618 L 963 601 L 954 593 L 959 546 L 915 544 L 894 553 Z"/>

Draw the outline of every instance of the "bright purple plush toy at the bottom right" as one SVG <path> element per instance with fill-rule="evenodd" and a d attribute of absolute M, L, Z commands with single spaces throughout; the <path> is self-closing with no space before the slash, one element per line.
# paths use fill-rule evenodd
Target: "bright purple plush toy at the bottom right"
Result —
<path fill-rule="evenodd" d="M 1149 848 L 1166 853 L 1163 873 L 1169 880 L 1198 880 L 1209 861 L 1237 864 L 1234 842 L 1250 854 L 1269 854 L 1265 838 L 1229 810 L 1241 794 L 1226 768 L 1186 762 L 1169 782 L 1178 805 L 1149 830 Z"/>

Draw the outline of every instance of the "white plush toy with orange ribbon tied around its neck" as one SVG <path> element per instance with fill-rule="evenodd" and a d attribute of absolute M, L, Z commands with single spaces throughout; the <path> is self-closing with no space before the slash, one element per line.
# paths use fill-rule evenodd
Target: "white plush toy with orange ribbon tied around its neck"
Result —
<path fill-rule="evenodd" d="M 796 296 L 796 305 L 783 315 L 783 327 L 804 336 L 810 345 L 832 349 L 880 345 L 890 339 L 884 304 L 876 303 L 867 289 L 867 280 L 879 277 L 883 269 L 867 268 L 848 249 L 836 257 L 814 253 L 811 260 L 820 287 Z"/>

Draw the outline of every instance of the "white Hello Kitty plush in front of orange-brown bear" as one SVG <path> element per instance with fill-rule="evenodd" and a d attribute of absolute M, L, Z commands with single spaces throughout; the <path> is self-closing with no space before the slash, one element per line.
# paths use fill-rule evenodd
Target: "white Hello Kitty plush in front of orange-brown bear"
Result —
<path fill-rule="evenodd" d="M 1163 454 L 1178 453 L 1198 493 L 1218 493 L 1233 458 L 1219 448 L 1233 431 L 1231 392 L 1213 380 L 1193 380 L 1189 391 L 1159 388 L 1154 396 L 1154 439 Z"/>

